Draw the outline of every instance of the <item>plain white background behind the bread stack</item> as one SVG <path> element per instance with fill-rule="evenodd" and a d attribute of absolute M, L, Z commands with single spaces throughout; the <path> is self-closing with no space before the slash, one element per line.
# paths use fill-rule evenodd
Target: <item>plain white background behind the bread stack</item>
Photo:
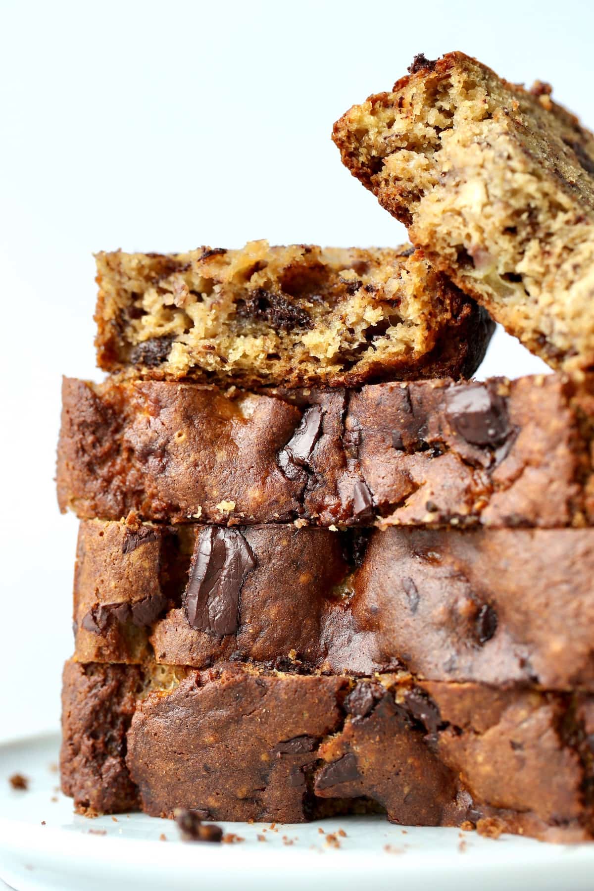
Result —
<path fill-rule="evenodd" d="M 549 80 L 594 125 L 591 3 L 0 2 L 0 738 L 57 725 L 76 520 L 61 373 L 94 369 L 98 249 L 395 244 L 330 142 L 415 53 Z M 482 369 L 543 366 L 498 335 Z"/>

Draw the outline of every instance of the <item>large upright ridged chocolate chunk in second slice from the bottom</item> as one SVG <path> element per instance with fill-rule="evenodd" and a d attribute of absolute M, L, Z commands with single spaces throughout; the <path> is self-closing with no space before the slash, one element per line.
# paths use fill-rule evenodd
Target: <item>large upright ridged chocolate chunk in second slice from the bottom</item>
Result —
<path fill-rule="evenodd" d="M 240 622 L 240 593 L 256 558 L 236 528 L 205 527 L 191 559 L 185 614 L 196 631 L 223 637 Z"/>

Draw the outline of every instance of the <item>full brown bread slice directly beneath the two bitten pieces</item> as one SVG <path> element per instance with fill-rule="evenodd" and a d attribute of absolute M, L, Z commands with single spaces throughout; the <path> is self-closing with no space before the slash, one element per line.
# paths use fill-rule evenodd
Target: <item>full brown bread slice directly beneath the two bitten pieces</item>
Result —
<path fill-rule="evenodd" d="M 566 375 L 266 394 L 65 379 L 58 498 L 84 519 L 583 526 L 593 388 Z"/>

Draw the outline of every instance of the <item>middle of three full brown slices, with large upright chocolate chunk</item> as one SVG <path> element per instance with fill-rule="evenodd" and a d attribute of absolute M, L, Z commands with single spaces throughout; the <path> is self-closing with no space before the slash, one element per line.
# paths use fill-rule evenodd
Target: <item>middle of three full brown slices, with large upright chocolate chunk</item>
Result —
<path fill-rule="evenodd" d="M 233 659 L 302 674 L 405 669 L 434 681 L 594 692 L 593 576 L 594 529 L 87 520 L 75 658 L 196 668 Z"/>

